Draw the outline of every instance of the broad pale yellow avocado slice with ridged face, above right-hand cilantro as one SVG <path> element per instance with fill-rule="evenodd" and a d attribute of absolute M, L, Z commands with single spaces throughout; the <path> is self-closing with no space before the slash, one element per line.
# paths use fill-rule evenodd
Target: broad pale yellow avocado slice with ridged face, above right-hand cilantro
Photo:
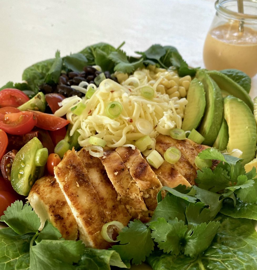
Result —
<path fill-rule="evenodd" d="M 244 165 L 255 158 L 257 134 L 254 115 L 241 99 L 228 96 L 224 98 L 224 118 L 229 135 L 227 151 L 241 150 Z"/>

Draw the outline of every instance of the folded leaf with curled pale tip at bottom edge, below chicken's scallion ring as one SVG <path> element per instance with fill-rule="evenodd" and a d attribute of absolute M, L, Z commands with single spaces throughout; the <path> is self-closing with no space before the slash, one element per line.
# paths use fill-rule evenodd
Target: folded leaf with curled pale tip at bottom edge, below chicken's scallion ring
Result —
<path fill-rule="evenodd" d="M 129 263 L 121 261 L 119 254 L 114 250 L 86 248 L 76 270 L 110 270 L 110 265 L 129 268 Z"/>

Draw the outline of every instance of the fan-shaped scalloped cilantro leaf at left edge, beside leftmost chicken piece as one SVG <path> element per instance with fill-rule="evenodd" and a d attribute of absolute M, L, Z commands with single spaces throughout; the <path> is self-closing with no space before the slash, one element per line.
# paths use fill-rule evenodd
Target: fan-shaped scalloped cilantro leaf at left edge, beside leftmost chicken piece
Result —
<path fill-rule="evenodd" d="M 15 201 L 9 206 L 0 221 L 5 222 L 17 234 L 26 234 L 28 232 L 38 232 L 41 225 L 40 218 L 32 210 L 29 204 L 22 201 Z"/>

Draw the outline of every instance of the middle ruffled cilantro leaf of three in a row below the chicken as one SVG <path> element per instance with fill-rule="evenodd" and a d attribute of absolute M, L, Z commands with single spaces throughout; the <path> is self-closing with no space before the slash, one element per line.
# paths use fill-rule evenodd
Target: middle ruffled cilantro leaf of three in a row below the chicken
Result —
<path fill-rule="evenodd" d="M 163 252 L 179 254 L 188 230 L 184 221 L 174 218 L 167 222 L 165 218 L 158 218 L 157 221 L 151 222 L 150 228 L 153 230 L 152 238 L 158 242 L 158 247 L 163 249 Z"/>

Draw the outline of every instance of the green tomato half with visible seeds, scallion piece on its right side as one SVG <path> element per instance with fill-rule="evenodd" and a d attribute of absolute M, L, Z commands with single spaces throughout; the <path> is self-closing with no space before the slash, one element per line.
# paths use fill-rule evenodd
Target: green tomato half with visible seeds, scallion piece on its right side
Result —
<path fill-rule="evenodd" d="M 43 176 L 44 166 L 37 167 L 35 164 L 35 155 L 41 148 L 42 143 L 34 137 L 20 149 L 13 160 L 11 183 L 13 189 L 21 195 L 29 195 L 34 182 Z"/>

